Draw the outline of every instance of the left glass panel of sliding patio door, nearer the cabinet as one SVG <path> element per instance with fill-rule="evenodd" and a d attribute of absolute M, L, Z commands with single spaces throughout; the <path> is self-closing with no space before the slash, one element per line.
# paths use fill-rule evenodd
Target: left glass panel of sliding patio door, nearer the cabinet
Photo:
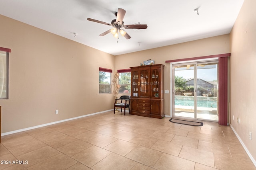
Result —
<path fill-rule="evenodd" d="M 174 115 L 195 118 L 194 64 L 174 66 L 174 78 Z"/>

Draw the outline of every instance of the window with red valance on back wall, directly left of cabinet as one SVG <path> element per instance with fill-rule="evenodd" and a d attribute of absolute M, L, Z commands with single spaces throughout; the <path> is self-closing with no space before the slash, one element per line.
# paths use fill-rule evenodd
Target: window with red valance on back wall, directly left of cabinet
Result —
<path fill-rule="evenodd" d="M 131 93 L 131 70 L 117 70 L 119 73 L 119 93 Z"/>

